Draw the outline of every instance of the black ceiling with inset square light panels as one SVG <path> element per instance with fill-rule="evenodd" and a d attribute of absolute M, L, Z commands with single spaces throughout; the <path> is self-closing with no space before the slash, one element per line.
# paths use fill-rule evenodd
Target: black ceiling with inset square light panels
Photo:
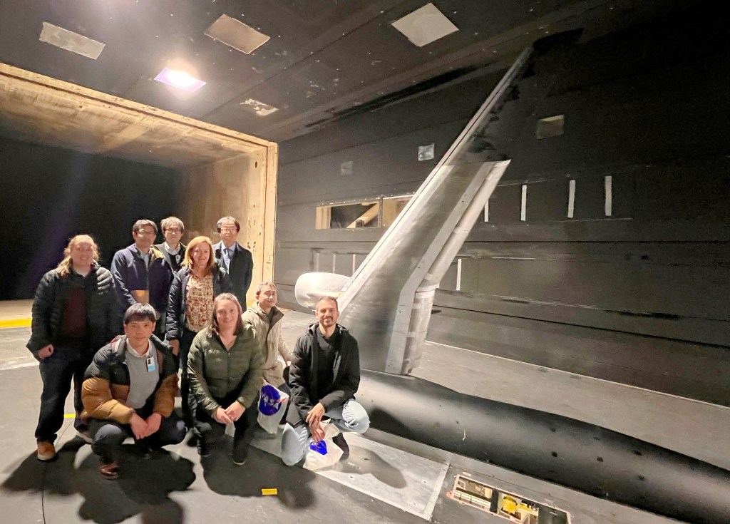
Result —
<path fill-rule="evenodd" d="M 0 0 L 0 62 L 281 142 L 434 82 L 506 67 L 542 36 L 581 28 L 587 39 L 691 4 L 434 0 L 459 30 L 416 47 L 391 22 L 426 3 Z M 205 36 L 223 14 L 271 39 L 245 55 Z M 103 42 L 104 50 L 92 60 L 40 42 L 44 22 Z M 191 96 L 174 96 L 152 80 L 175 58 L 198 69 L 207 85 Z M 240 105 L 249 98 L 279 110 L 260 117 Z"/>

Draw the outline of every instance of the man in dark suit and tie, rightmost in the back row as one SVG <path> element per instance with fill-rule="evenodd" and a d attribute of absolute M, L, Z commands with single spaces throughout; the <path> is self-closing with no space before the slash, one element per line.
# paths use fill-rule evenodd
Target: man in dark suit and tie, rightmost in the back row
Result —
<path fill-rule="evenodd" d="M 233 285 L 233 294 L 245 308 L 246 293 L 253 275 L 253 256 L 251 252 L 236 241 L 241 225 L 234 217 L 223 217 L 216 224 L 220 242 L 215 244 L 215 263 L 228 271 Z"/>

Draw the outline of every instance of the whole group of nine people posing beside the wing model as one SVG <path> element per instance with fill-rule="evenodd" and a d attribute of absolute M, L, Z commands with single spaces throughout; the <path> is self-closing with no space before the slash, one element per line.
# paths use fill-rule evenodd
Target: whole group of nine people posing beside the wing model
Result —
<path fill-rule="evenodd" d="M 317 323 L 290 352 L 276 285 L 261 282 L 244 311 L 253 258 L 237 242 L 234 217 L 217 228 L 218 244 L 196 236 L 185 246 L 182 220 L 168 217 L 161 221 L 165 241 L 154 244 L 156 224 L 138 220 L 134 244 L 115 253 L 111 270 L 99 266 L 91 236 L 69 241 L 61 263 L 39 283 L 27 344 L 43 382 L 39 461 L 56 457 L 72 384 L 74 428 L 99 455 L 107 479 L 118 478 L 129 437 L 147 458 L 192 431 L 205 457 L 228 423 L 235 428 L 233 461 L 245 463 L 264 385 L 291 398 L 281 420 L 287 465 L 304 459 L 310 440 L 323 439 L 325 418 L 343 432 L 366 431 L 368 415 L 354 400 L 358 345 L 337 324 L 337 298 L 320 299 Z M 178 390 L 182 416 L 174 410 Z M 334 442 L 346 456 L 342 434 Z"/>

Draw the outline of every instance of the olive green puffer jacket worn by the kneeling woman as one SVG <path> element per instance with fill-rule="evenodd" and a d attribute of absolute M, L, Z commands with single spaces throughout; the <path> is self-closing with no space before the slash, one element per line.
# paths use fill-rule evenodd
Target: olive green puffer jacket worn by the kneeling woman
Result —
<path fill-rule="evenodd" d="M 208 328 L 193 339 L 188 355 L 190 390 L 200 407 L 212 417 L 223 398 L 235 396 L 248 409 L 261 387 L 264 359 L 256 342 L 255 331 L 246 325 L 230 350 L 218 335 L 208 336 Z M 231 401 L 232 402 L 232 401 Z"/>

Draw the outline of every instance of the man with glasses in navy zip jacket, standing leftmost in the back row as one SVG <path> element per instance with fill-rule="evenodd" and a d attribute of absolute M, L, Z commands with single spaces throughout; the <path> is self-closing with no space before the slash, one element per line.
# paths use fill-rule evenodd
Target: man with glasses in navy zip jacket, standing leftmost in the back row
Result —
<path fill-rule="evenodd" d="M 119 250 L 112 258 L 112 277 L 122 312 L 137 303 L 150 304 L 158 317 L 155 335 L 164 340 L 172 269 L 153 245 L 155 236 L 157 226 L 152 220 L 137 220 L 132 226 L 134 244 Z"/>

